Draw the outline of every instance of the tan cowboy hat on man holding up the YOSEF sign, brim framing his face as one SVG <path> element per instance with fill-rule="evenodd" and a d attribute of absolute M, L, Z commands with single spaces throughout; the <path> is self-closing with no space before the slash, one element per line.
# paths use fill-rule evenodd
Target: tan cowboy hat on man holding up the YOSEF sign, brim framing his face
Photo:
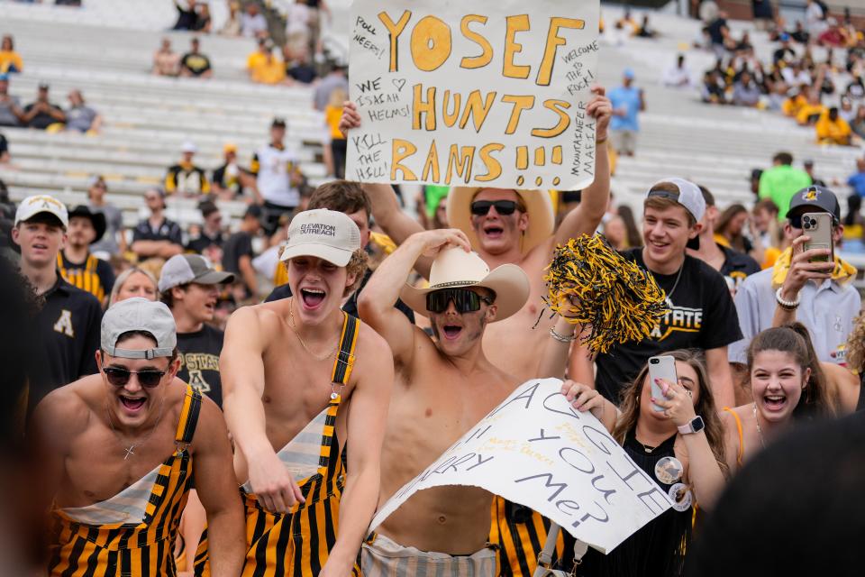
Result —
<path fill-rule="evenodd" d="M 455 187 L 451 188 L 448 195 L 448 225 L 459 228 L 469 236 L 469 242 L 473 247 L 478 246 L 478 235 L 471 228 L 471 200 L 479 190 L 478 187 Z M 522 252 L 531 251 L 535 246 L 550 238 L 555 215 L 552 214 L 552 201 L 546 190 L 514 190 L 520 196 L 525 205 L 525 211 L 529 215 L 529 227 L 523 238 Z"/>

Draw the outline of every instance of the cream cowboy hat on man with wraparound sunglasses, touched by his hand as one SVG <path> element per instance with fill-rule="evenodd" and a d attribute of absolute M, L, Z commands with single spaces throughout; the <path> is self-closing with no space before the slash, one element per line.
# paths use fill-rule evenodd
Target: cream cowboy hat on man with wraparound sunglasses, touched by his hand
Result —
<path fill-rule="evenodd" d="M 406 284 L 400 298 L 415 313 L 429 316 L 426 309 L 428 293 L 462 287 L 483 287 L 495 292 L 495 304 L 498 307 L 496 321 L 513 315 L 529 298 L 529 278 L 523 269 L 515 264 L 503 264 L 490 272 L 487 263 L 477 252 L 465 252 L 461 248 L 449 248 L 439 252 L 435 261 L 432 261 L 430 286 L 416 289 Z"/>

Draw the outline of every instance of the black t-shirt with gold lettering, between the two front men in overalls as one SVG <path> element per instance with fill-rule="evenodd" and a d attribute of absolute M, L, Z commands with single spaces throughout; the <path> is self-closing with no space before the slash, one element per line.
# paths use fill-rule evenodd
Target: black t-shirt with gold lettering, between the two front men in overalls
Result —
<path fill-rule="evenodd" d="M 212 398 L 220 407 L 223 381 L 219 377 L 219 353 L 223 352 L 223 336 L 221 330 L 206 324 L 196 333 L 178 333 L 178 379 Z"/>

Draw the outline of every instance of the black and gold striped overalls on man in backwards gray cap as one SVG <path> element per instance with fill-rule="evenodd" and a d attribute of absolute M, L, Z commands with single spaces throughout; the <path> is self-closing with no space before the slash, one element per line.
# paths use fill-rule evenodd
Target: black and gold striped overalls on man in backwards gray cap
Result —
<path fill-rule="evenodd" d="M 192 485 L 187 445 L 196 432 L 201 393 L 187 386 L 175 435 L 177 449 L 159 465 L 140 523 L 86 525 L 62 509 L 53 511 L 50 545 L 52 577 L 156 577 L 176 575 L 174 556 L 180 514 Z M 109 499 L 111 500 L 111 499 Z"/>

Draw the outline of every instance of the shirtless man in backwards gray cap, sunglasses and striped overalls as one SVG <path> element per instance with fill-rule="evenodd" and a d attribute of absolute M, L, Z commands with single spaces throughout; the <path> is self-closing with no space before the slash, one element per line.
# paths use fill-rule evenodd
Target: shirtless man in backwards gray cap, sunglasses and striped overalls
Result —
<path fill-rule="evenodd" d="M 243 563 L 243 509 L 214 402 L 174 381 L 174 317 L 129 298 L 105 312 L 99 373 L 56 389 L 33 415 L 53 499 L 50 575 L 173 575 L 172 545 L 195 479 L 212 529 L 212 574 Z M 77 568 L 77 569 L 76 569 Z"/>

